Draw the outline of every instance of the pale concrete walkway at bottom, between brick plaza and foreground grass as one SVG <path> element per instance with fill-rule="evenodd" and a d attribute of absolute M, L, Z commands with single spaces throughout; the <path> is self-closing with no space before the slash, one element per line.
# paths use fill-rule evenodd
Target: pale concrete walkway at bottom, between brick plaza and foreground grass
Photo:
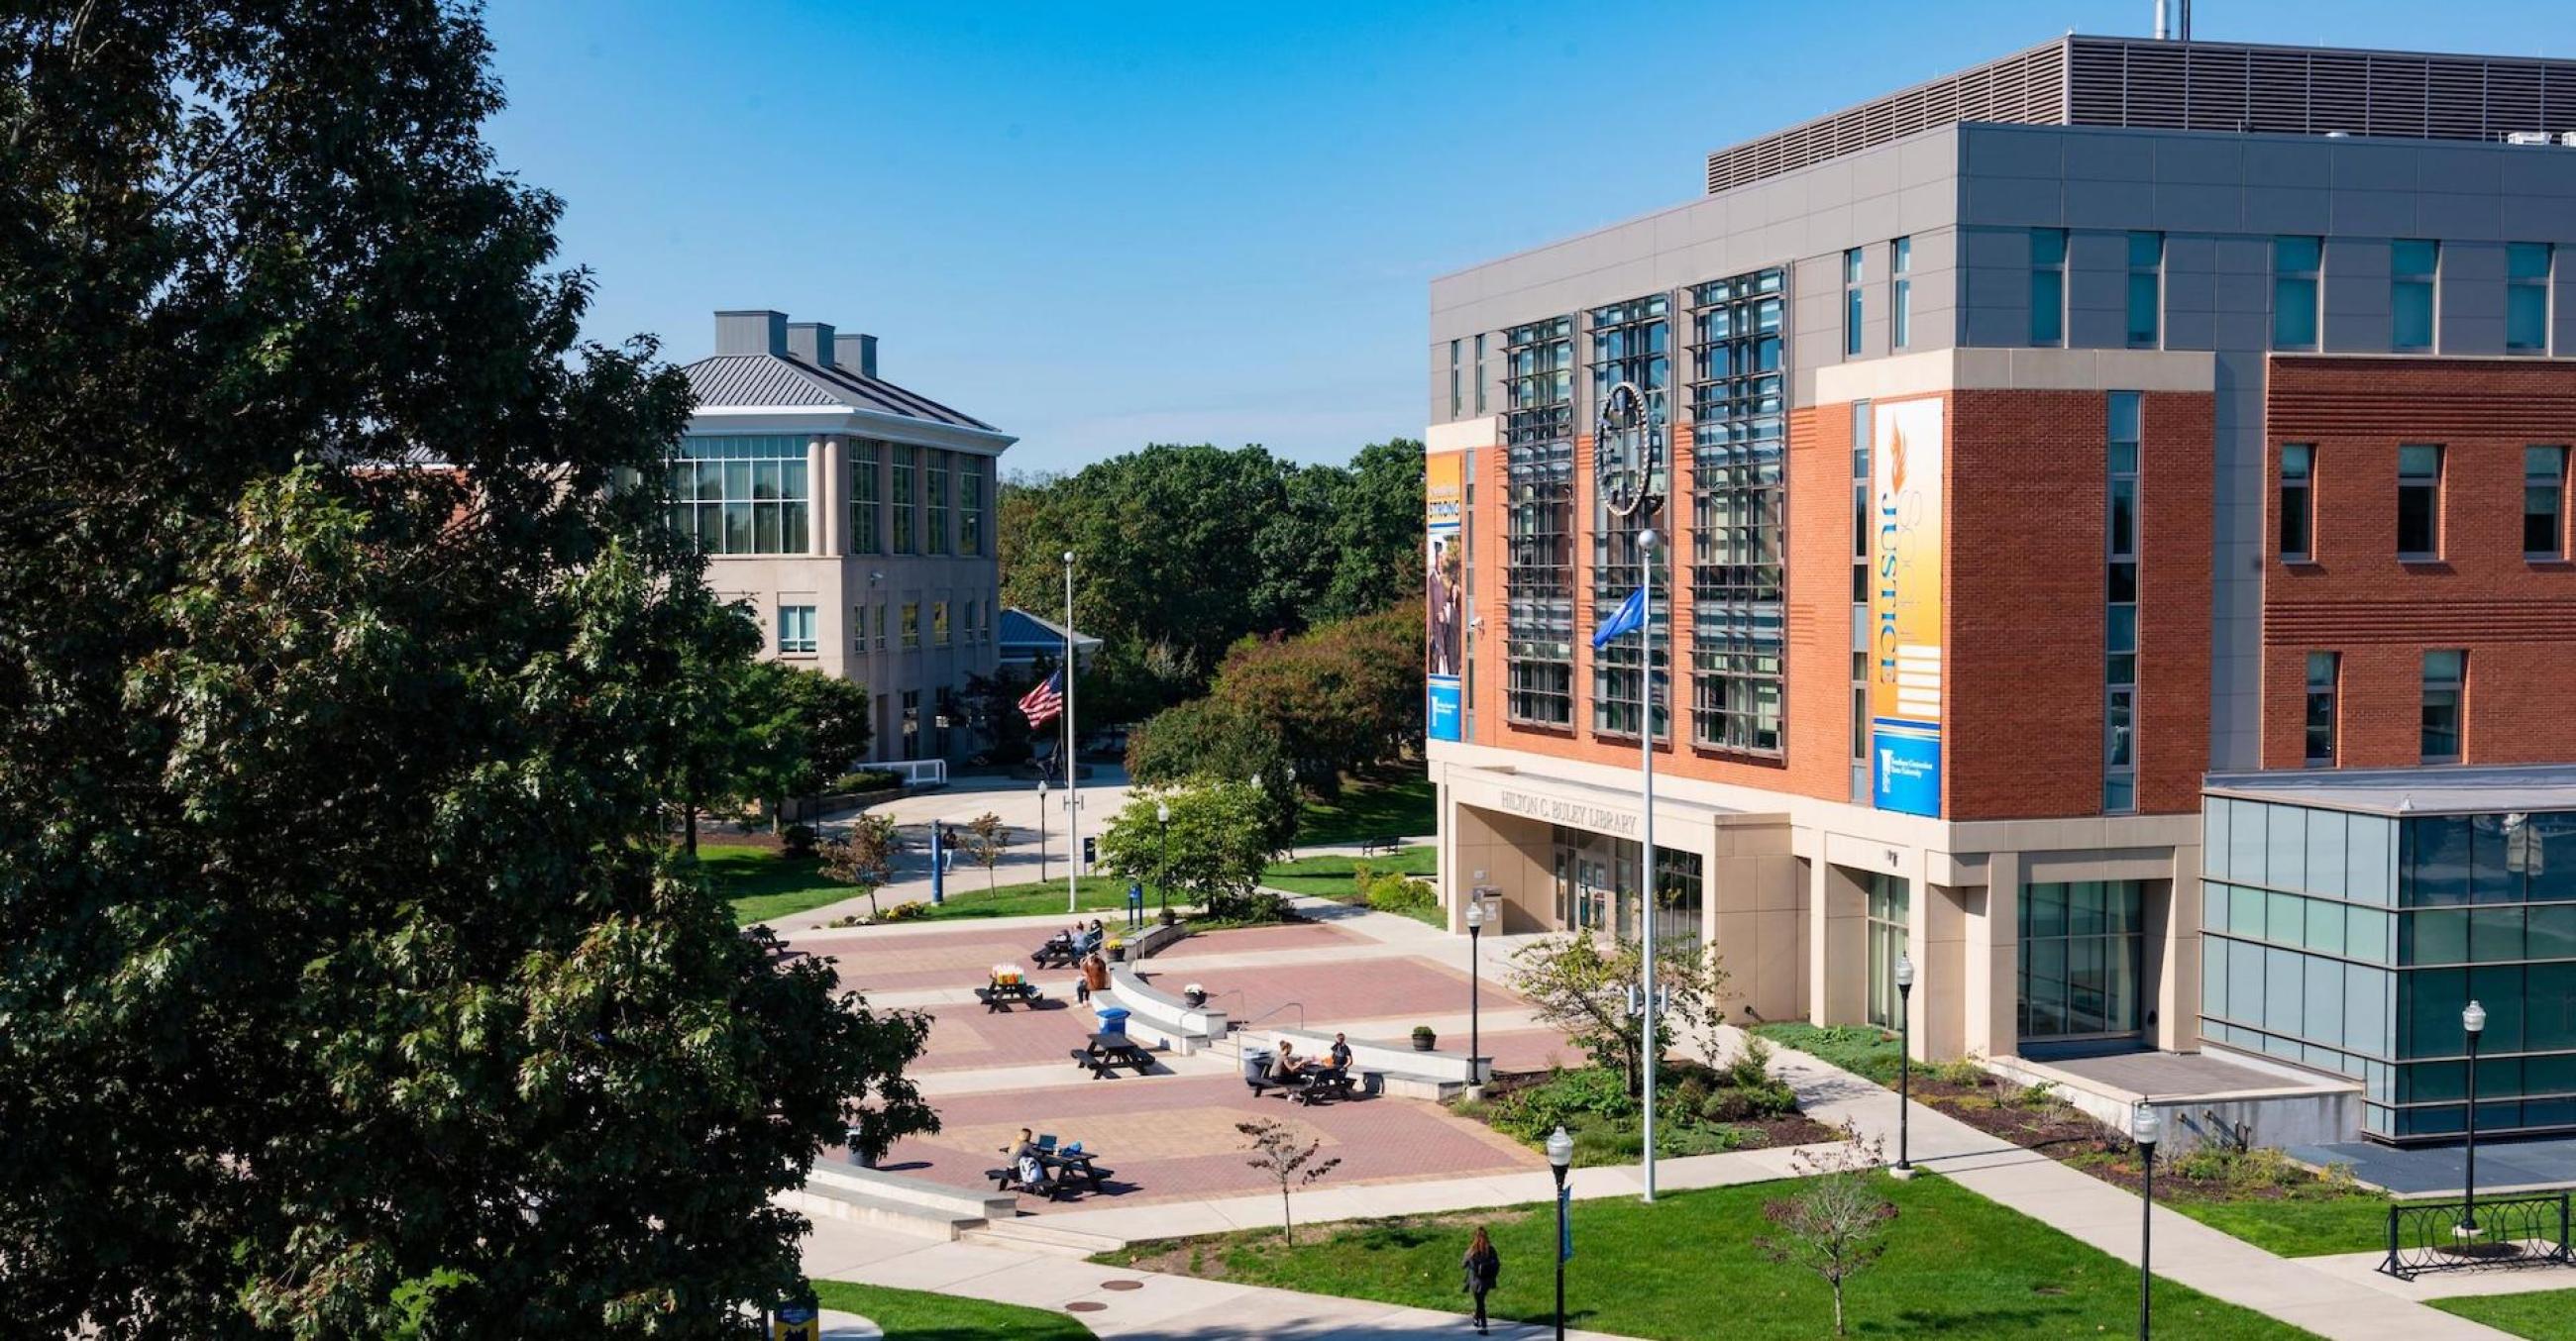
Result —
<path fill-rule="evenodd" d="M 804 1243 L 804 1272 L 811 1279 L 853 1279 L 1043 1310 L 1097 1305 L 1072 1315 L 1095 1333 L 1118 1338 L 1218 1341 L 1239 1336 L 1332 1336 L 1368 1341 L 1381 1336 L 1458 1336 L 1468 1331 L 1466 1315 L 1458 1313 L 1126 1272 L 1069 1256 L 912 1238 L 842 1220 L 814 1223 L 814 1233 Z M 1110 1284 L 1118 1284 L 1118 1290 Z M 1548 1336 L 1548 1328 L 1494 1323 L 1494 1336 L 1538 1341 Z M 1610 1341 L 1607 1333 L 1595 1331 L 1569 1331 L 1566 1336 Z"/>

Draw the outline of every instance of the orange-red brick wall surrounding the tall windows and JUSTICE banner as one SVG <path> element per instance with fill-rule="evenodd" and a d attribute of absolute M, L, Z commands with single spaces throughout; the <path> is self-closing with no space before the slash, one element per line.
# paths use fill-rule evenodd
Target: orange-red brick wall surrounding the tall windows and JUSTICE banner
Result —
<path fill-rule="evenodd" d="M 1945 396 L 1947 685 L 1945 798 L 1955 821 L 2102 811 L 2107 396 L 2102 391 L 1958 391 Z M 1852 414 L 1790 414 L 1785 757 L 1747 759 L 1690 741 L 1690 610 L 1674 610 L 1680 777 L 1850 798 L 1852 767 Z M 1687 430 L 1674 443 L 1687 461 Z M 1504 453 L 1476 453 L 1471 504 L 1476 744 L 1610 767 L 1636 741 L 1589 721 L 1592 443 L 1574 453 L 1574 726 L 1507 718 Z M 1687 489 L 1677 471 L 1677 492 Z M 1685 494 L 1687 499 L 1687 494 Z M 1667 507 L 1674 592 L 1690 587 L 1690 507 Z M 2141 445 L 2138 808 L 2195 811 L 2208 767 L 2210 687 L 2210 396 L 2148 394 Z"/>

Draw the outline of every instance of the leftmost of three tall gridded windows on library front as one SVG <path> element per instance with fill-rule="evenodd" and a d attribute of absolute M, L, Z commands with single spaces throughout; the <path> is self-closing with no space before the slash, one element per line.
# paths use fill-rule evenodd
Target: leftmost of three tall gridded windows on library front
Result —
<path fill-rule="evenodd" d="M 1574 723 L 1574 317 L 1502 332 L 1504 710 Z"/>

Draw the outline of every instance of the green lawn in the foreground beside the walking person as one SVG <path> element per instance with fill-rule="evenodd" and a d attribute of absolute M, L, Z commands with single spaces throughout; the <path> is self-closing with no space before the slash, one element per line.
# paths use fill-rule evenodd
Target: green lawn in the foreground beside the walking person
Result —
<path fill-rule="evenodd" d="M 1909 1184 L 1878 1179 L 1899 1205 L 1886 1256 L 1844 1284 L 1855 1336 L 2076 1336 L 2128 1333 L 2138 1274 L 2020 1212 L 1937 1174 Z M 1569 1323 L 1620 1336 L 1806 1341 L 1832 1336 L 1832 1295 L 1801 1269 L 1770 1261 L 1762 1205 L 1790 1184 L 1677 1192 L 1656 1205 L 1633 1197 L 1574 1202 L 1574 1261 L 1566 1264 Z M 1502 1253 L 1497 1318 L 1551 1320 L 1556 1217 L 1548 1205 L 1448 1217 L 1365 1220 L 1306 1230 L 1296 1248 L 1278 1233 L 1229 1233 L 1136 1243 L 1103 1264 L 1164 1259 L 1224 1272 L 1247 1284 L 1461 1310 L 1458 1253 L 1476 1225 Z M 2156 1282 L 2156 1323 L 2172 1336 L 2226 1341 L 2306 1336 L 2174 1282 Z"/>

